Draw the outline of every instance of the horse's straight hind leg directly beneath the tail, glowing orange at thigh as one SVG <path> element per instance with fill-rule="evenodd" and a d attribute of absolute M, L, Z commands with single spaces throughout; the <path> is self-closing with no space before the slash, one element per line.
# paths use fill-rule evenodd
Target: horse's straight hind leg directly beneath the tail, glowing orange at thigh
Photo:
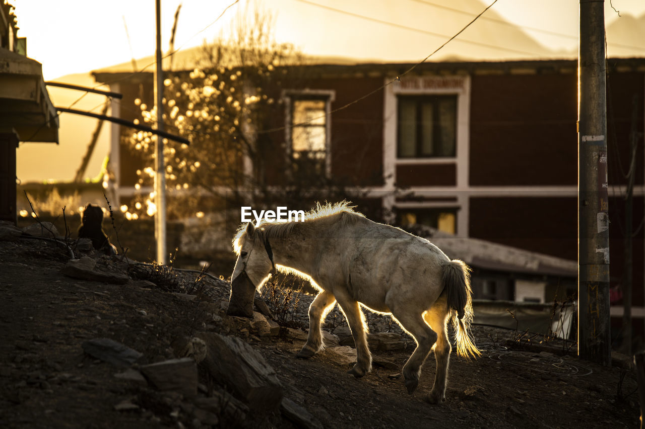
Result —
<path fill-rule="evenodd" d="M 446 400 L 446 384 L 448 383 L 448 363 L 450 362 L 450 341 L 446 331 L 446 318 L 448 307 L 445 298 L 439 298 L 430 310 L 426 312 L 425 319 L 430 327 L 437 332 L 437 345 L 435 345 L 435 358 L 437 359 L 437 372 L 435 372 L 435 384 L 426 396 L 426 401 L 437 404 Z"/>

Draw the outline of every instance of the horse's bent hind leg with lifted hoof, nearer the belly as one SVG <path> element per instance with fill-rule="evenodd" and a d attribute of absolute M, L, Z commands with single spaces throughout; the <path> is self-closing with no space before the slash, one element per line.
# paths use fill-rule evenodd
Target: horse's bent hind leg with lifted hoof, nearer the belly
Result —
<path fill-rule="evenodd" d="M 392 308 L 394 307 L 394 308 Z M 417 348 L 415 348 L 410 359 L 403 365 L 403 377 L 405 378 L 405 386 L 408 393 L 412 394 L 419 385 L 419 376 L 421 375 L 421 365 L 423 365 L 426 357 L 430 354 L 432 346 L 437 341 L 437 334 L 430 329 L 421 314 L 406 311 L 406 309 L 398 309 L 395 306 L 392 309 L 392 316 L 394 316 L 401 326 L 408 331 L 417 341 Z"/>

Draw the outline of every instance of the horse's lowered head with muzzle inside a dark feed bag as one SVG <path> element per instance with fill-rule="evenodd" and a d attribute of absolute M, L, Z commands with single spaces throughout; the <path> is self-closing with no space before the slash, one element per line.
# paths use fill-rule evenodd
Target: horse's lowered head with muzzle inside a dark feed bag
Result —
<path fill-rule="evenodd" d="M 275 272 L 273 251 L 266 234 L 249 222 L 233 242 L 237 262 L 231 276 L 231 296 L 226 314 L 253 317 L 255 289 L 259 290 Z"/>

